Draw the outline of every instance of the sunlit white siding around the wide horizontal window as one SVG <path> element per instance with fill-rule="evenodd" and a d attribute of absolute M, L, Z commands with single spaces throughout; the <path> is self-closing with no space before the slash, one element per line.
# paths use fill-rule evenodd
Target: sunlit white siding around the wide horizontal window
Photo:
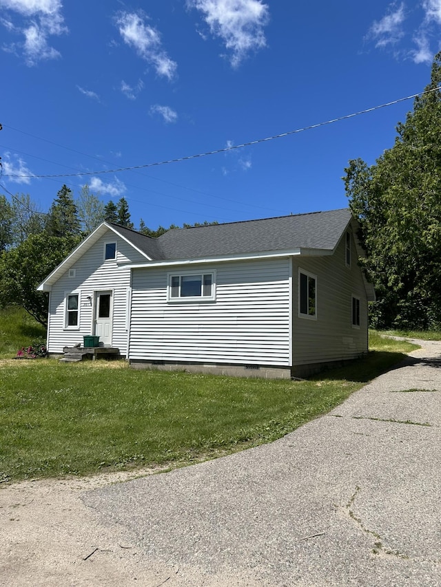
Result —
<path fill-rule="evenodd" d="M 290 271 L 289 259 L 216 264 L 216 301 L 170 303 L 167 269 L 134 269 L 129 358 L 289 365 Z"/>

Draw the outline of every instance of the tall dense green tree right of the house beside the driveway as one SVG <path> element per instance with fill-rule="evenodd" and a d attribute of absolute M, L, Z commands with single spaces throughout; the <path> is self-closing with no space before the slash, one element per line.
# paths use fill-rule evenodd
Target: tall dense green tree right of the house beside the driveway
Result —
<path fill-rule="evenodd" d="M 374 328 L 441 328 L 440 83 L 441 53 L 426 88 L 434 91 L 416 98 L 393 147 L 371 167 L 357 159 L 345 169 L 376 286 Z"/>

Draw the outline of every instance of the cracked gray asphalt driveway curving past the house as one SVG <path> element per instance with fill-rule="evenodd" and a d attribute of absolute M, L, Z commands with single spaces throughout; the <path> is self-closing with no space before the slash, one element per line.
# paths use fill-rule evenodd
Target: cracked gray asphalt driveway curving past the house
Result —
<path fill-rule="evenodd" d="M 420 344 L 276 442 L 83 502 L 163 568 L 152 587 L 440 586 L 441 343 Z"/>

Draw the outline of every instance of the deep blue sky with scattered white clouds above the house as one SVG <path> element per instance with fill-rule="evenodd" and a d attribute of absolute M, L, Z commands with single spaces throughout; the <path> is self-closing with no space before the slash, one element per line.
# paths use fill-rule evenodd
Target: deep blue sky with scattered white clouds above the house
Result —
<path fill-rule="evenodd" d="M 94 172 L 421 92 L 440 33 L 441 0 L 0 0 L 0 193 L 48 211 L 88 184 L 150 228 L 345 207 L 347 162 L 391 147 L 412 100 Z"/>

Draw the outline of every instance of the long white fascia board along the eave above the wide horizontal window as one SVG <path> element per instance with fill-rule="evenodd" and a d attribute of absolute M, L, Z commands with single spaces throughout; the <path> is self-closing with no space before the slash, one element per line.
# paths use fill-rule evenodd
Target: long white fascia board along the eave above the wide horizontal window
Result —
<path fill-rule="evenodd" d="M 176 259 L 163 261 L 153 261 L 151 263 L 136 263 L 128 265 L 132 269 L 143 269 L 147 267 L 174 267 L 174 266 L 191 266 L 199 264 L 225 263 L 228 261 L 254 261 L 258 259 L 280 259 L 283 257 L 305 256 L 322 256 L 332 255 L 331 250 L 314 249 L 314 248 L 295 248 L 289 250 L 278 250 L 275 253 L 245 253 L 243 255 L 225 255 L 224 257 L 201 257 L 198 259 Z M 127 267 L 127 265 L 125 265 Z"/>

